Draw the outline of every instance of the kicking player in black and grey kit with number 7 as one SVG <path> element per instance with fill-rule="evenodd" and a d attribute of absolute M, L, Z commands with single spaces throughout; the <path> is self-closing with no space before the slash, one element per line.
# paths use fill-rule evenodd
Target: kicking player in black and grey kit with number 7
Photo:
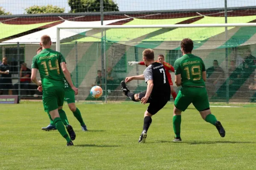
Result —
<path fill-rule="evenodd" d="M 166 103 L 170 100 L 171 93 L 168 79 L 166 79 L 164 65 L 159 62 L 155 62 L 154 51 L 152 49 L 145 49 L 142 56 L 147 67 L 143 74 L 139 76 L 127 77 L 125 81 L 121 82 L 122 91 L 132 101 L 141 101 L 143 104 L 150 103 L 147 111 L 144 113 L 144 125 L 138 140 L 139 143 L 145 142 L 147 138 L 147 130 L 152 122 L 151 117 L 166 105 Z M 147 90 L 139 94 L 130 92 L 125 83 L 134 79 L 145 80 L 147 83 Z"/>

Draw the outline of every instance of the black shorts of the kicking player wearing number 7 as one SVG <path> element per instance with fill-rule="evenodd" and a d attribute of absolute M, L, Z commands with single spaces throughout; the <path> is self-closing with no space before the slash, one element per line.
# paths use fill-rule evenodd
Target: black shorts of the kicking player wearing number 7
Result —
<path fill-rule="evenodd" d="M 145 95 L 147 91 L 142 91 L 141 93 L 138 94 L 138 98 L 141 100 Z M 154 115 L 158 111 L 160 111 L 168 102 L 167 98 L 151 98 L 149 97 L 147 100 L 147 103 L 149 103 L 149 106 L 147 108 L 147 112 Z"/>

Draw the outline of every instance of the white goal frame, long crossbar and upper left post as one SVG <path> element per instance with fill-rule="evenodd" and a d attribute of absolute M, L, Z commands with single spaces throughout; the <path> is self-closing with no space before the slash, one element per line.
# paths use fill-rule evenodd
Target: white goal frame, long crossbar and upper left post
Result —
<path fill-rule="evenodd" d="M 250 27 L 256 23 L 225 23 L 225 24 L 172 24 L 172 25 L 111 25 L 111 26 L 57 26 L 56 51 L 60 51 L 60 29 L 111 29 L 111 28 L 200 28 L 200 27 Z"/>

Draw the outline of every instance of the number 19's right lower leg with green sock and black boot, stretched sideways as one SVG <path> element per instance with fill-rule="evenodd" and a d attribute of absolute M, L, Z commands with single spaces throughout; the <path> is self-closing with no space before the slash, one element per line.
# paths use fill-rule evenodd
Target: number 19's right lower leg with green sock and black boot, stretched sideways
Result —
<path fill-rule="evenodd" d="M 226 132 L 224 130 L 224 127 L 221 125 L 221 122 L 219 122 L 216 117 L 211 113 L 210 108 L 205 111 L 200 111 L 200 114 L 202 118 L 206 121 L 214 125 L 221 137 L 225 137 Z"/>

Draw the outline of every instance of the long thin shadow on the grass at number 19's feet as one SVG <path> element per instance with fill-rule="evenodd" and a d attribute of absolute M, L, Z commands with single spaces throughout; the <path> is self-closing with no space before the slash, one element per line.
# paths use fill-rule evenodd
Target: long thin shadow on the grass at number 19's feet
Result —
<path fill-rule="evenodd" d="M 157 141 L 154 143 L 184 143 L 184 144 L 217 144 L 217 143 L 228 143 L 228 144 L 237 144 L 237 143 L 256 143 L 256 142 L 239 142 L 239 141 L 183 141 L 183 142 L 172 142 L 172 141 Z"/>

